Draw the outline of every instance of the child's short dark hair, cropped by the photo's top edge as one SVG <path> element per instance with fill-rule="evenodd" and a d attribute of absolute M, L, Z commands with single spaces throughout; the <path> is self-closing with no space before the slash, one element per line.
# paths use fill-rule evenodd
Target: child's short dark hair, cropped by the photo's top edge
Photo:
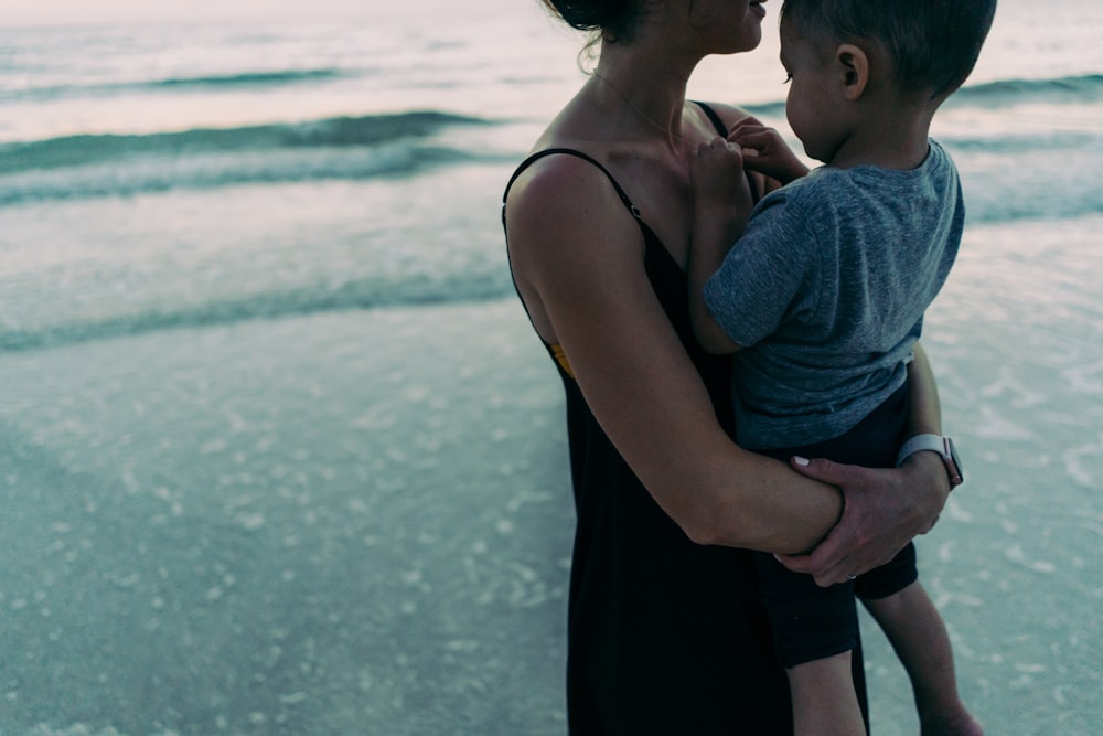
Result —
<path fill-rule="evenodd" d="M 782 18 L 834 43 L 881 45 L 901 92 L 941 99 L 973 71 L 996 0 L 785 0 Z"/>

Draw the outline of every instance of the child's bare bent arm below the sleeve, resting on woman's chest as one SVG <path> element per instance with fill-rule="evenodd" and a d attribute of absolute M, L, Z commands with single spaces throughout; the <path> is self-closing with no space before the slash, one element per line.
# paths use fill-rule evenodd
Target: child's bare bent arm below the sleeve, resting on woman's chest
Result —
<path fill-rule="evenodd" d="M 732 353 L 741 345 L 713 319 L 702 290 L 742 235 L 753 206 L 739 146 L 722 138 L 702 143 L 690 172 L 694 226 L 687 264 L 689 316 L 705 350 L 716 354 Z"/>

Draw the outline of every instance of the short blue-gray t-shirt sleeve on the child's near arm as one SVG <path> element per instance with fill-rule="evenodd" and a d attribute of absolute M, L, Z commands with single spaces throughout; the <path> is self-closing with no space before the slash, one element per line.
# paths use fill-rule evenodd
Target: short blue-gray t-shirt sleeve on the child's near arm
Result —
<path fill-rule="evenodd" d="M 717 324 L 748 348 L 785 322 L 815 313 L 821 270 L 815 232 L 804 209 L 780 194 L 759 204 L 703 291 Z"/>

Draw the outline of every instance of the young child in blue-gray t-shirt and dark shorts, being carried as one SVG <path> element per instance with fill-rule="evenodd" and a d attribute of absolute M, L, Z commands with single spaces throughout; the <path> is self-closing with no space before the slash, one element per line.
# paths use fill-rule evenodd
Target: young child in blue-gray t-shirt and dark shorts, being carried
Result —
<path fill-rule="evenodd" d="M 690 309 L 708 350 L 738 351 L 732 401 L 747 449 L 886 467 L 917 445 L 938 447 L 951 487 L 961 482 L 949 439 L 904 442 L 907 363 L 964 222 L 956 169 L 929 129 L 971 73 L 995 4 L 786 0 L 786 116 L 826 166 L 808 173 L 753 119 L 698 151 Z M 786 184 L 749 221 L 743 167 Z M 855 596 L 911 678 L 922 733 L 981 733 L 957 695 L 950 640 L 911 545 L 829 588 L 770 555 L 759 566 L 796 734 L 866 733 L 850 674 Z"/>

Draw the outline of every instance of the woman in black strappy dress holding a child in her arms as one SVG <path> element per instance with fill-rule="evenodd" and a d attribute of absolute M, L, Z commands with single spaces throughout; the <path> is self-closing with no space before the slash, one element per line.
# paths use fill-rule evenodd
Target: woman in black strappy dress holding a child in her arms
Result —
<path fill-rule="evenodd" d="M 704 56 L 758 45 L 761 2 L 544 1 L 601 44 L 503 211 L 517 290 L 567 393 L 570 730 L 791 733 L 746 550 L 818 544 L 790 566 L 840 582 L 930 529 L 946 472 L 920 452 L 900 470 L 817 460 L 802 476 L 729 437 L 728 363 L 700 350 L 687 312 L 689 161 L 747 116 L 686 103 L 685 90 Z M 938 433 L 917 358 L 913 434 Z"/>

